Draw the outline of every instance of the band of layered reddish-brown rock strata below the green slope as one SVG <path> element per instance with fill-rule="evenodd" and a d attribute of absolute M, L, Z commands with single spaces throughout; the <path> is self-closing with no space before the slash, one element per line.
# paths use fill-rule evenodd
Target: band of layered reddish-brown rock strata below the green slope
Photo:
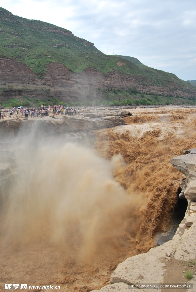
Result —
<path fill-rule="evenodd" d="M 102 98 L 102 92 L 97 91 L 96 88 L 121 88 L 125 89 L 136 86 L 139 91 L 160 93 L 165 95 L 179 95 L 179 96 L 192 96 L 192 91 L 181 85 L 178 88 L 176 83 L 171 83 L 165 87 L 149 84 L 149 80 L 141 75 L 127 75 L 117 71 L 111 71 L 103 74 L 97 69 L 88 67 L 79 74 L 71 72 L 65 65 L 52 62 L 47 65 L 47 72 L 43 74 L 44 79 L 39 79 L 34 72 L 22 62 L 17 62 L 8 58 L 0 58 L 0 82 L 2 84 L 8 83 L 21 88 L 24 84 L 31 87 L 29 92 L 30 96 L 37 95 L 36 88 L 46 89 L 51 88 L 47 97 L 59 96 L 63 101 L 76 101 L 76 100 L 94 100 Z M 146 85 L 148 84 L 148 85 Z M 32 89 L 34 87 L 34 89 Z M 54 89 L 54 90 L 53 90 Z M 15 95 L 15 98 L 25 96 L 24 89 L 20 90 L 2 90 L 0 92 L 0 100 L 8 100 L 11 98 L 9 95 Z M 35 92 L 34 92 L 35 91 Z M 29 96 L 28 94 L 28 96 Z M 13 96 L 12 96 L 13 98 Z M 39 92 L 37 98 L 46 98 L 44 91 Z"/>

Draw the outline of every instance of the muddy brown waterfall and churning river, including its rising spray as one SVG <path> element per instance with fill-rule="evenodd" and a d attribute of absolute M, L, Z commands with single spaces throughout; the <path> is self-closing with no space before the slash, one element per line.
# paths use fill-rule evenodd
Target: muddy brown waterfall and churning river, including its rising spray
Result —
<path fill-rule="evenodd" d="M 167 231 L 184 177 L 169 161 L 196 147 L 196 109 L 132 113 L 124 126 L 95 131 L 93 149 L 41 143 L 30 153 L 27 143 L 15 154 L 23 172 L 1 215 L 2 290 L 99 289 Z"/>

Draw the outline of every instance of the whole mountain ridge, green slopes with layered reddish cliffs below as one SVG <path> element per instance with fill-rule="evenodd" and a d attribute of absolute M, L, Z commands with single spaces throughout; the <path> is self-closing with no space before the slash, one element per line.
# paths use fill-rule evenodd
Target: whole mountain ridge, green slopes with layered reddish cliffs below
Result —
<path fill-rule="evenodd" d="M 58 87 L 63 93 L 54 91 L 53 97 L 69 101 L 101 100 L 106 89 L 125 91 L 133 87 L 142 94 L 182 98 L 196 95 L 195 86 L 174 74 L 145 66 L 133 57 L 105 55 L 70 30 L 28 20 L 4 8 L 0 8 L 0 82 L 7 84 L 1 88 L 0 100 L 9 99 L 13 94 L 25 95 L 17 91 L 23 86 L 31 87 L 32 91 L 33 86 L 42 86 L 44 90 L 46 86 Z M 18 93 L 13 93 L 8 86 L 13 86 Z M 96 88 L 101 91 L 97 92 Z M 122 97 L 112 95 L 111 98 Z"/>

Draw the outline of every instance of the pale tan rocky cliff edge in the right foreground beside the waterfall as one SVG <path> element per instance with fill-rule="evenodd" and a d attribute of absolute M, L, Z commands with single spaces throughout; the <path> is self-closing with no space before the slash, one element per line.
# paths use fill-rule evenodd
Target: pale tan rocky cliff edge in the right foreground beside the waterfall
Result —
<path fill-rule="evenodd" d="M 127 258 L 120 263 L 110 277 L 110 285 L 104 286 L 100 292 L 121 292 L 131 289 L 132 284 L 193 284 L 196 291 L 196 149 L 183 150 L 182 155 L 171 159 L 171 164 L 186 175 L 180 189 L 188 199 L 185 217 L 179 225 L 173 239 L 154 248 L 147 253 Z M 182 193 L 183 192 L 183 193 Z M 186 270 L 193 274 L 191 280 L 185 277 Z M 140 291 L 153 292 L 154 289 Z M 156 291 L 165 291 L 157 289 Z M 177 290 L 176 290 L 177 291 Z M 187 291 L 186 289 L 183 291 Z"/>

